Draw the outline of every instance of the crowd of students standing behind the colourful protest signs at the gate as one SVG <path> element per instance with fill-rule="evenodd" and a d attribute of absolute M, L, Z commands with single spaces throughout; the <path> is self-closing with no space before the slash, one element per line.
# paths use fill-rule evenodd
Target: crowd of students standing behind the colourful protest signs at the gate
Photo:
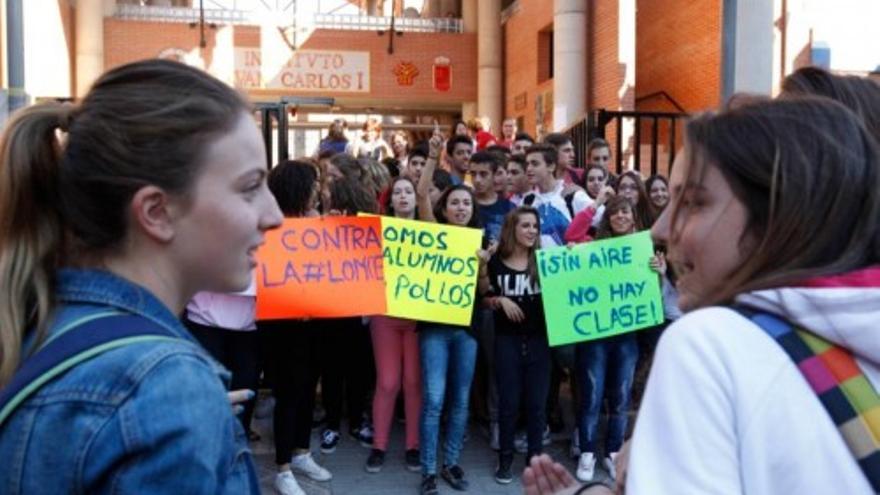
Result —
<path fill-rule="evenodd" d="M 612 460 L 627 431 L 639 356 L 649 361 L 644 357 L 652 353 L 655 334 L 662 326 L 640 334 L 651 336 L 647 345 L 640 346 L 637 336 L 630 334 L 551 349 L 535 251 L 649 228 L 665 207 L 668 191 L 649 197 L 638 173 L 612 174 L 607 169 L 610 150 L 601 139 L 590 145 L 590 156 L 598 163 L 585 168 L 577 163 L 567 136 L 550 134 L 535 143 L 505 121 L 506 139 L 487 137 L 476 126 L 462 126 L 463 134 L 448 137 L 436 130 L 430 140 L 411 149 L 408 140 L 399 140 L 393 146 L 397 157 L 380 164 L 378 157 L 355 157 L 356 151 L 348 147 L 333 147 L 339 125 L 331 124 L 317 160 L 286 161 L 272 169 L 269 188 L 284 215 L 381 213 L 480 229 L 480 283 L 474 294 L 480 297 L 470 324 L 464 326 L 363 315 L 267 322 L 254 322 L 251 317 L 231 327 L 233 322 L 221 316 L 222 307 L 229 307 L 230 297 L 246 297 L 249 306 L 242 310 L 253 315 L 253 292 L 198 294 L 189 305 L 188 322 L 199 339 L 210 343 L 226 335 L 228 342 L 221 347 L 234 349 L 247 330 L 258 328 L 257 333 L 263 335 L 231 352 L 259 354 L 262 340 L 261 362 L 252 356 L 214 352 L 216 346 L 206 344 L 206 348 L 233 376 L 241 377 L 235 386 L 255 388 L 254 377 L 263 366 L 264 383 L 275 398 L 276 490 L 302 493 L 294 474 L 316 481 L 332 477 L 310 454 L 309 431 L 319 382 L 326 411 L 321 451 L 332 454 L 341 439 L 345 390 L 349 433 L 370 447 L 364 464 L 370 473 L 381 471 L 386 462 L 395 404 L 404 391 L 403 462 L 408 469 L 421 472 L 420 493 L 437 493 L 439 478 L 458 490 L 468 487 L 459 459 L 472 409 L 484 416 L 489 444 L 498 451 L 496 481 L 510 483 L 515 452 L 522 451 L 526 459 L 535 457 L 549 444 L 551 430 L 559 433 L 563 429 L 558 404 L 564 376 L 570 377 L 579 394 L 572 411 L 576 418 L 572 456 L 579 460 L 578 477 L 592 479 L 600 459 L 613 469 Z M 368 122 L 364 129 L 373 133 L 375 122 Z M 372 141 L 381 139 L 370 135 Z M 397 136 L 393 140 L 398 141 Z M 496 141 L 511 146 L 519 143 L 522 152 Z M 475 151 L 481 143 L 484 149 Z M 401 148 L 405 148 L 405 157 L 400 156 Z M 651 183 L 663 186 L 667 181 L 658 176 Z M 666 280 L 662 255 L 652 260 L 652 266 L 674 293 Z M 206 318 L 215 314 L 213 320 Z M 206 336 L 208 327 L 216 332 Z M 476 396 L 485 400 L 470 403 L 472 385 L 480 389 Z M 366 407 L 370 392 L 371 408 Z M 609 428 L 600 448 L 598 422 L 606 396 Z M 249 404 L 241 416 L 249 432 L 251 410 Z M 550 418 L 555 420 L 552 428 Z M 523 431 L 519 438 L 518 429 Z"/>

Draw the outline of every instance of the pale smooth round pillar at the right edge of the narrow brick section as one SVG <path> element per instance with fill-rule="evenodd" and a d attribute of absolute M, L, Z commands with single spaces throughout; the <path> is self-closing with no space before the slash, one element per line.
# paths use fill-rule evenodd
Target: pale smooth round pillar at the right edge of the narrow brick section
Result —
<path fill-rule="evenodd" d="M 553 130 L 587 111 L 587 1 L 553 3 Z"/>

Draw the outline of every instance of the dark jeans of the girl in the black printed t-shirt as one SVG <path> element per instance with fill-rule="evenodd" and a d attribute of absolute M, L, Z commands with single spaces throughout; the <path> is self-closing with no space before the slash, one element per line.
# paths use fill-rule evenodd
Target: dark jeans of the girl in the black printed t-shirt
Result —
<path fill-rule="evenodd" d="M 498 423 L 501 455 L 513 455 L 516 415 L 525 396 L 528 455 L 540 454 L 550 387 L 550 348 L 545 335 L 495 336 Z M 528 458 L 528 457 L 527 457 Z"/>

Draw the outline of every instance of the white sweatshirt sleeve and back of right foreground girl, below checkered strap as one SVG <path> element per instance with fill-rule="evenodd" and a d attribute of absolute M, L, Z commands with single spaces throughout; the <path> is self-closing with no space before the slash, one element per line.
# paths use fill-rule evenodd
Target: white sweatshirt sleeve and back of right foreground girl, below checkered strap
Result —
<path fill-rule="evenodd" d="M 719 307 L 660 339 L 628 473 L 630 495 L 873 493 L 779 344 Z"/>

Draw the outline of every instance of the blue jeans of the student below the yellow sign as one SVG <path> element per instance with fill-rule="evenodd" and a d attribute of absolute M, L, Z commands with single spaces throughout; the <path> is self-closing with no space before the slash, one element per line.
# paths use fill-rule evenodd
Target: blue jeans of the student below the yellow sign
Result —
<path fill-rule="evenodd" d="M 467 428 L 468 400 L 477 341 L 461 327 L 437 327 L 419 330 L 422 363 L 422 417 L 419 425 L 422 474 L 437 474 L 437 444 L 440 437 L 440 414 L 449 383 L 449 417 L 443 463 L 458 464 L 464 431 Z"/>

